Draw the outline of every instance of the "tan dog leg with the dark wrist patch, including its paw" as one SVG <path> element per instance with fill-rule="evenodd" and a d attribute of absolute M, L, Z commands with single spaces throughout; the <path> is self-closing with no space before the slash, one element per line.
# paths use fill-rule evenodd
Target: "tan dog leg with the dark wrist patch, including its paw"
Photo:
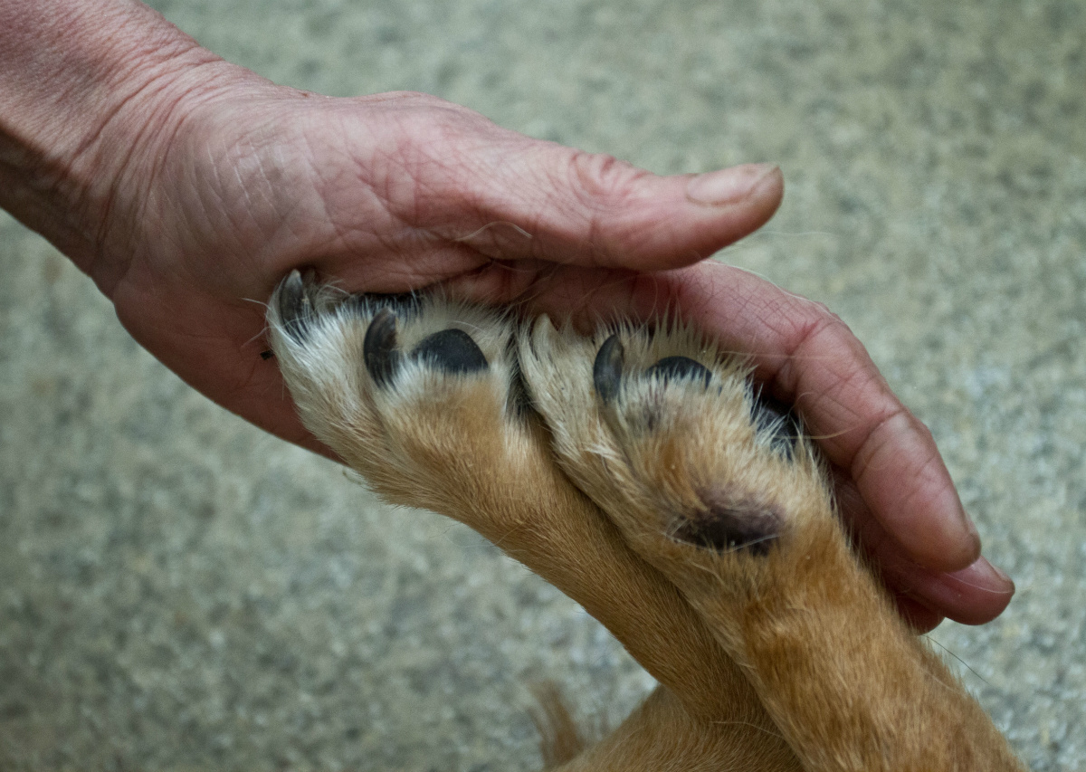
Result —
<path fill-rule="evenodd" d="M 815 447 L 696 333 L 540 319 L 521 368 L 573 482 L 678 586 L 805 769 L 1019 770 L 857 560 Z"/>

